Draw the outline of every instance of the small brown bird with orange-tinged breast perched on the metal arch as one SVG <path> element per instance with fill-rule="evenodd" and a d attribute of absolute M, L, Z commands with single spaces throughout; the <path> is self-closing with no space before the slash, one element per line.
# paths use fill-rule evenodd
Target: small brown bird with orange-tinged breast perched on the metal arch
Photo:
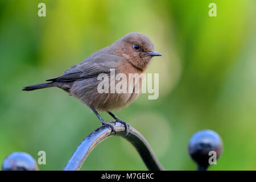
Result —
<path fill-rule="evenodd" d="M 112 45 L 86 57 L 84 61 L 69 68 L 63 75 L 46 80 L 51 82 L 26 86 L 22 90 L 30 91 L 52 86 L 61 88 L 88 105 L 100 119 L 102 125 L 109 125 L 115 132 L 111 123 L 123 123 L 128 134 L 129 125 L 110 111 L 122 109 L 138 98 L 139 93 L 135 92 L 134 88 L 139 86 L 139 92 L 141 91 L 142 78 L 133 85 L 129 85 L 133 87 L 132 92 L 99 93 L 98 84 L 101 80 L 98 79 L 98 76 L 101 73 L 105 73 L 110 78 L 110 69 L 114 69 L 116 75 L 123 73 L 127 78 L 129 78 L 129 73 L 138 73 L 140 75 L 147 69 L 153 56 L 162 55 L 154 52 L 154 44 L 150 38 L 138 32 L 131 32 Z M 114 84 L 119 81 L 115 80 Z M 129 79 L 126 81 L 128 85 Z M 115 122 L 104 121 L 97 110 L 107 111 L 115 119 Z"/>

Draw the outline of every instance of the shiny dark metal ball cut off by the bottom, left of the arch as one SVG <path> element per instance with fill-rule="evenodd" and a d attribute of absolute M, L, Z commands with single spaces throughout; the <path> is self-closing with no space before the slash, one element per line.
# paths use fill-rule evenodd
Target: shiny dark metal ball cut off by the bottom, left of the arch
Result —
<path fill-rule="evenodd" d="M 26 152 L 13 152 L 2 164 L 3 171 L 36 171 L 38 164 L 31 155 Z"/>

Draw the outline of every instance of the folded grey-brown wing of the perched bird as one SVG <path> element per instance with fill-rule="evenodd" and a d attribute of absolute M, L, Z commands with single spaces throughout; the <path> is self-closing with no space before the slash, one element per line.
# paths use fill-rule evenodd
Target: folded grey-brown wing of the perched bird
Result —
<path fill-rule="evenodd" d="M 119 60 L 120 57 L 117 55 L 106 53 L 93 54 L 82 61 L 82 63 L 69 68 L 63 75 L 47 81 L 76 81 L 96 77 L 100 73 L 110 73 L 110 68 L 115 68 Z"/>

